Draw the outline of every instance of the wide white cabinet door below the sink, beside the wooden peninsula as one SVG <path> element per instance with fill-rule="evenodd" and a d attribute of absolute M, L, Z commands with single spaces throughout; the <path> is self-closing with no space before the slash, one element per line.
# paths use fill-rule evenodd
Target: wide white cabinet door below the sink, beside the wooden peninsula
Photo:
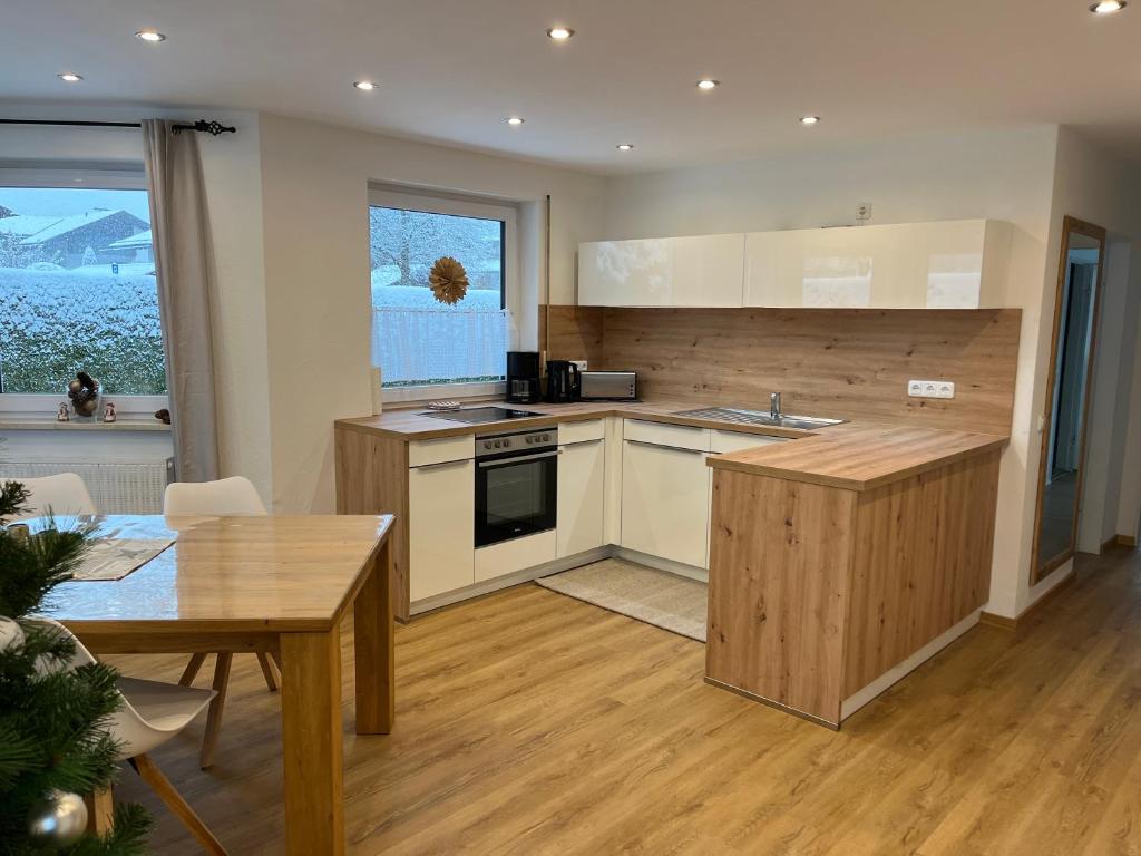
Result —
<path fill-rule="evenodd" d="M 625 441 L 622 546 L 707 567 L 709 484 L 705 452 Z"/>

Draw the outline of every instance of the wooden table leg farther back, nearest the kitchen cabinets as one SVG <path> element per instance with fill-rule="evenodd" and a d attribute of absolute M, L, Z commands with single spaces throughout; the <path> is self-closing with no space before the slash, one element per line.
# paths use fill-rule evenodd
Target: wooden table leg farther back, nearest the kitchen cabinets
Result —
<path fill-rule="evenodd" d="M 389 734 L 396 718 L 391 563 L 385 541 L 353 605 L 357 734 Z"/>

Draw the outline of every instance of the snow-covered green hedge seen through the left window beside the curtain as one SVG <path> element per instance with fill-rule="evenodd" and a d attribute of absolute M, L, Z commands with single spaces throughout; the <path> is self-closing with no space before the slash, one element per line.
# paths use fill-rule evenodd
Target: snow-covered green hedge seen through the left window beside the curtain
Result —
<path fill-rule="evenodd" d="M 82 369 L 107 394 L 164 393 L 155 288 L 138 273 L 0 268 L 5 391 L 62 394 Z"/>

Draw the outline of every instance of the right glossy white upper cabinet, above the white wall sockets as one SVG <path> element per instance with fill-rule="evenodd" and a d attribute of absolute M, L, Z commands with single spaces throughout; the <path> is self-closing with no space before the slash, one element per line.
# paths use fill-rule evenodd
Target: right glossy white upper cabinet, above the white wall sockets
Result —
<path fill-rule="evenodd" d="M 1011 226 L 953 220 L 745 236 L 745 306 L 1005 306 Z"/>

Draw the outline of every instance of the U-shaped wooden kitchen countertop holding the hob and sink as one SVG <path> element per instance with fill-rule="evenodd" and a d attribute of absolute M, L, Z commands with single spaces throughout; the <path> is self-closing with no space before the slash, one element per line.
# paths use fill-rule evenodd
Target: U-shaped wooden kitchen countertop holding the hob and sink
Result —
<path fill-rule="evenodd" d="M 471 406 L 504 405 L 501 402 L 486 402 Z M 707 463 L 714 469 L 810 482 L 850 491 L 868 491 L 920 473 L 939 469 L 964 458 L 1001 449 L 1009 442 L 1009 437 L 993 434 L 941 430 L 913 425 L 853 421 L 806 431 L 678 415 L 678 411 L 701 406 L 691 402 L 577 402 L 512 406 L 542 415 L 513 419 L 509 422 L 467 425 L 422 415 L 421 407 L 390 410 L 379 417 L 339 419 L 337 426 L 395 439 L 413 441 L 541 428 L 558 422 L 584 421 L 608 415 L 645 419 L 653 422 L 794 439 L 795 443 L 772 443 L 743 452 L 711 455 Z"/>

